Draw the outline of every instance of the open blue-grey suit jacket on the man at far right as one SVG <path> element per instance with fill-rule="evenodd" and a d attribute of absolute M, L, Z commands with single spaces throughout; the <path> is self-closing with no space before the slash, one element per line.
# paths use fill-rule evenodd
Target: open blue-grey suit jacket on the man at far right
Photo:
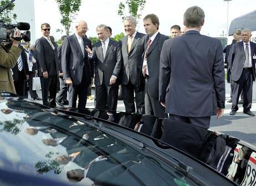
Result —
<path fill-rule="evenodd" d="M 253 59 L 253 55 L 256 54 L 256 43 L 250 42 L 250 55 L 252 58 L 252 69 L 253 69 L 253 81 L 255 81 L 255 63 L 256 59 Z M 244 67 L 245 52 L 243 42 L 235 43 L 232 45 L 229 51 L 228 61 L 232 64 L 231 66 L 231 78 L 233 81 L 238 81 Z"/>

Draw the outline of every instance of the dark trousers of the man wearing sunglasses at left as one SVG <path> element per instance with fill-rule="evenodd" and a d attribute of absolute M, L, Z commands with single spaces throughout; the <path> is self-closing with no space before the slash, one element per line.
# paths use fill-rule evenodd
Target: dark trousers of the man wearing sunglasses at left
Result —
<path fill-rule="evenodd" d="M 56 107 L 56 94 L 57 94 L 57 75 L 49 75 L 48 78 L 40 77 L 42 86 L 42 99 L 43 105 L 49 107 Z M 48 101 L 49 95 L 49 101 Z"/>

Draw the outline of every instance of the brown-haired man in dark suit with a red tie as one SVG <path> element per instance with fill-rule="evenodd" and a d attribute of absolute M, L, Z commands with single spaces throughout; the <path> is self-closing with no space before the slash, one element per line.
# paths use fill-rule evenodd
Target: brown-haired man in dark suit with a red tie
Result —
<path fill-rule="evenodd" d="M 146 77 L 145 85 L 145 113 L 158 117 L 166 117 L 165 107 L 159 102 L 159 64 L 163 42 L 168 39 L 166 35 L 158 32 L 159 19 L 155 14 L 148 14 L 144 19 L 144 28 L 147 33 L 142 74 Z"/>

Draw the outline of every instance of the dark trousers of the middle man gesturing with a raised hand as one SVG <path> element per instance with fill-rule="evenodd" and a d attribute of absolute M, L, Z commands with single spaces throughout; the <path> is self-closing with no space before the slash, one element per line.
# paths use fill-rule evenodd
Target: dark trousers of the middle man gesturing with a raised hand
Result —
<path fill-rule="evenodd" d="M 116 111 L 118 98 L 118 85 L 105 85 L 104 81 L 101 85 L 95 85 L 96 108 L 107 110 L 109 112 Z"/>

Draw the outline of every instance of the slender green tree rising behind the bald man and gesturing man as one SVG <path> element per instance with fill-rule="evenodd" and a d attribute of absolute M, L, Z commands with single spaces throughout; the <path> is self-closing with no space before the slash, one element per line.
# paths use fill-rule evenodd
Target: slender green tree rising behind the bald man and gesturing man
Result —
<path fill-rule="evenodd" d="M 60 23 L 65 28 L 66 35 L 69 35 L 71 23 L 75 19 L 76 12 L 80 9 L 81 0 L 56 0 L 56 2 L 62 15 Z"/>

